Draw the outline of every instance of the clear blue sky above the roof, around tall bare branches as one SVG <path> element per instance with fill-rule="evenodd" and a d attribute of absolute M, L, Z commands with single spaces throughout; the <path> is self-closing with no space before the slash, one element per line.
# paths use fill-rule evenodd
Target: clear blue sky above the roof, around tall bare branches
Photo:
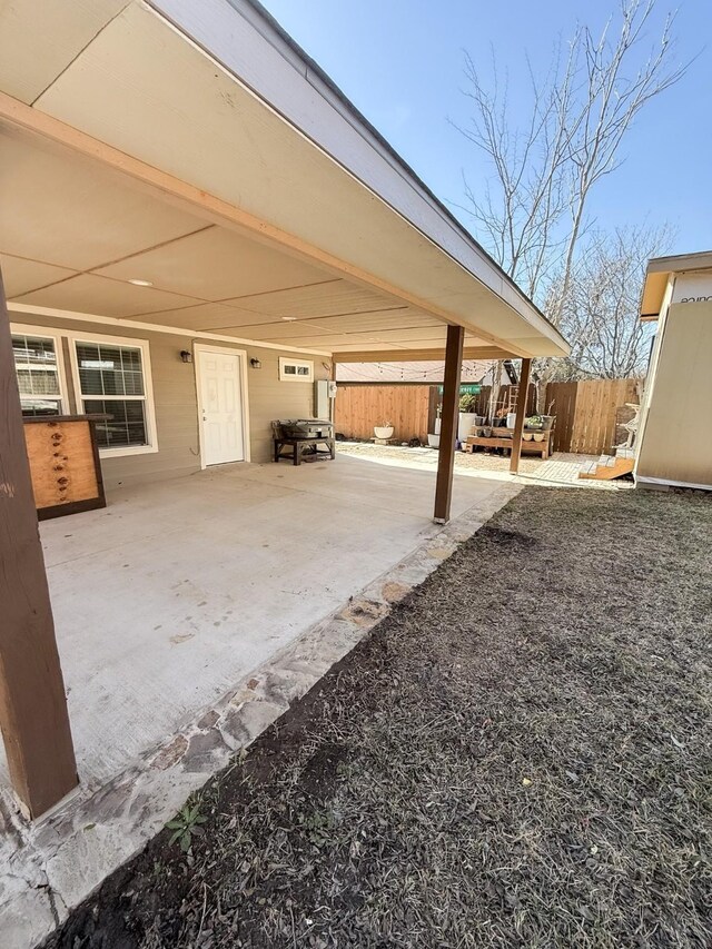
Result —
<path fill-rule="evenodd" d="M 543 75 L 576 22 L 595 33 L 619 0 L 263 0 L 423 180 L 459 211 L 463 169 L 476 187 L 483 159 L 448 119 L 464 125 L 463 50 L 486 68 L 494 48 L 508 73 L 513 116 L 525 115 L 525 52 Z M 659 0 L 656 22 L 675 0 Z M 655 39 L 651 27 L 649 45 Z M 681 82 L 653 100 L 629 132 L 623 166 L 595 192 L 602 228 L 669 223 L 670 253 L 712 249 L 712 0 L 680 0 L 676 58 L 696 57 Z"/>

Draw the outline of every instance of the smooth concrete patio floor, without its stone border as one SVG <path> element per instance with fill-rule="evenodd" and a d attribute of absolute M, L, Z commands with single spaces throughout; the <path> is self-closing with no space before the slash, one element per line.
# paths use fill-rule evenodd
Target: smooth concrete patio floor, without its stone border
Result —
<path fill-rule="evenodd" d="M 231 465 L 115 490 L 105 510 L 44 522 L 82 783 L 116 778 L 437 544 L 433 484 L 434 472 L 348 457 Z M 457 478 L 453 513 L 494 513 L 517 490 Z"/>

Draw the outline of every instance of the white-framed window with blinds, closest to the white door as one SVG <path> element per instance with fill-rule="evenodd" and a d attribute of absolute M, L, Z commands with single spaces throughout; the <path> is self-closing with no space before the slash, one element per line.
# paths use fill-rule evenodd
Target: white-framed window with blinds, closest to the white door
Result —
<path fill-rule="evenodd" d="M 146 349 L 139 343 L 75 340 L 81 412 L 107 416 L 97 422 L 102 449 L 151 448 Z"/>

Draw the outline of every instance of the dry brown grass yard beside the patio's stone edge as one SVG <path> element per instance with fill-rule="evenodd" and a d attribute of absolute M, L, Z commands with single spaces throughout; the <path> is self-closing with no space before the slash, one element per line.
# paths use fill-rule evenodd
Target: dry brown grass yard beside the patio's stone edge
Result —
<path fill-rule="evenodd" d="M 525 490 L 51 946 L 711 946 L 710 550 Z"/>

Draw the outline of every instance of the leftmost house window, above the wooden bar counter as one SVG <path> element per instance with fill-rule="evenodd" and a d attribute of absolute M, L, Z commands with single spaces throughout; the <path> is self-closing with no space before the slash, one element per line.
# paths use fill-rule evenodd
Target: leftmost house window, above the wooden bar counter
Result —
<path fill-rule="evenodd" d="M 13 333 L 12 352 L 22 415 L 61 415 L 58 340 L 53 336 Z"/>

